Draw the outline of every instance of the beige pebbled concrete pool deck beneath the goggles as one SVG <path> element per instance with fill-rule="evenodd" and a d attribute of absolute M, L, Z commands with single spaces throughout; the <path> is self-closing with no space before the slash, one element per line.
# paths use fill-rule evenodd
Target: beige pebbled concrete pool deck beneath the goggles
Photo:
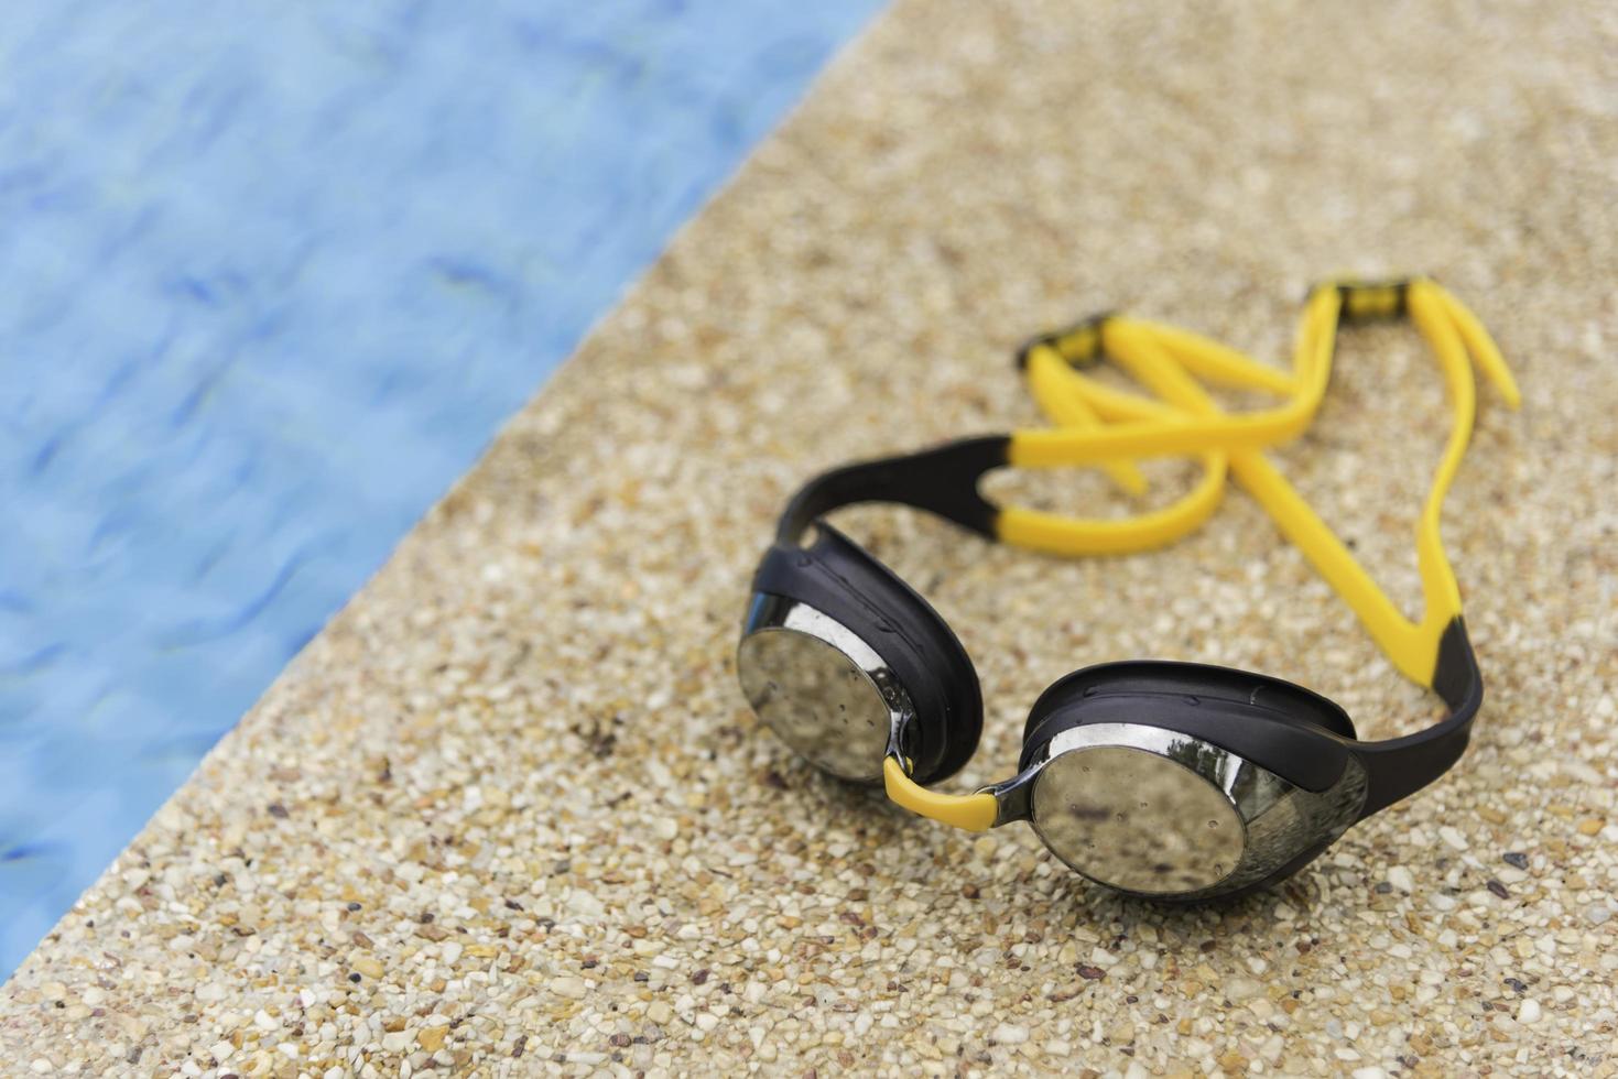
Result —
<path fill-rule="evenodd" d="M 1613 1074 L 1615 36 L 1595 5 L 901 2 L 0 992 L 0 1068 Z M 1445 518 L 1490 686 L 1458 773 L 1175 911 L 756 728 L 731 647 L 793 484 L 1027 421 L 1013 343 L 1099 307 L 1277 358 L 1343 269 L 1445 280 L 1527 396 L 1485 393 Z M 1443 416 L 1411 332 L 1354 332 L 1280 455 L 1409 597 Z M 961 788 L 1126 655 L 1291 676 L 1372 736 L 1432 715 L 1239 493 L 1125 560 L 848 526 L 979 665 Z"/>

